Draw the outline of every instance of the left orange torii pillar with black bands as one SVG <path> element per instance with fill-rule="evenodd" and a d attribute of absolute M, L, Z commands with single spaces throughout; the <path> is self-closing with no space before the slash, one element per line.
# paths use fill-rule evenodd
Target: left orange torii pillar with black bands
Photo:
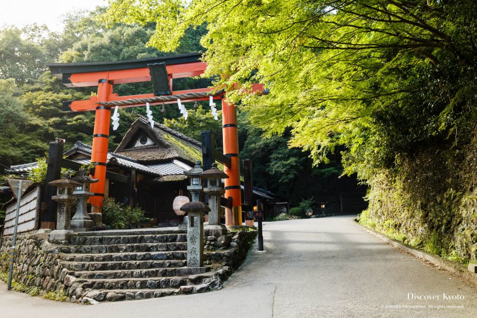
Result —
<path fill-rule="evenodd" d="M 107 78 L 98 81 L 98 101 L 107 102 L 112 94 L 113 84 Z M 96 104 L 98 105 L 98 104 Z M 93 144 L 91 151 L 91 163 L 95 165 L 94 179 L 99 182 L 92 183 L 90 191 L 94 193 L 89 202 L 92 204 L 92 212 L 101 212 L 104 199 L 104 185 L 106 180 L 106 162 L 108 161 L 108 143 L 110 138 L 111 108 L 98 105 L 94 116 Z"/>

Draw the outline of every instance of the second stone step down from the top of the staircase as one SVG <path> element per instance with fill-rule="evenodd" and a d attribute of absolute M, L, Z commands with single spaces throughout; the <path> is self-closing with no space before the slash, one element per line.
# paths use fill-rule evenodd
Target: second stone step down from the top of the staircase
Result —
<path fill-rule="evenodd" d="M 186 242 L 187 234 L 155 234 L 155 235 L 126 235 L 126 236 L 74 236 L 72 245 L 111 245 L 137 243 L 174 243 Z"/>

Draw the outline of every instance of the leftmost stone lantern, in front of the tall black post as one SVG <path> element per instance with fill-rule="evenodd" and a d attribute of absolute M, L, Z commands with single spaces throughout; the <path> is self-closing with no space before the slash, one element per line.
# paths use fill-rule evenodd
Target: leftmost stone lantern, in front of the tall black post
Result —
<path fill-rule="evenodd" d="M 73 231 L 70 230 L 71 204 L 77 200 L 73 195 L 73 188 L 80 186 L 80 184 L 69 179 L 67 174 L 63 179 L 58 179 L 48 184 L 56 187 L 56 195 L 52 196 L 52 200 L 58 202 L 56 230 L 50 232 L 48 240 L 52 242 L 69 240 L 73 235 Z"/>

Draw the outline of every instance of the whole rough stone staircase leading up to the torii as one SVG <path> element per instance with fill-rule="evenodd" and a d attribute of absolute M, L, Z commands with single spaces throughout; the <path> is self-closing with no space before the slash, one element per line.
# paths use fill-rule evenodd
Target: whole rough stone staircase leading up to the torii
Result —
<path fill-rule="evenodd" d="M 186 266 L 183 230 L 147 229 L 78 233 L 61 248 L 72 301 L 145 299 L 202 293 L 221 287 L 220 275 Z"/>

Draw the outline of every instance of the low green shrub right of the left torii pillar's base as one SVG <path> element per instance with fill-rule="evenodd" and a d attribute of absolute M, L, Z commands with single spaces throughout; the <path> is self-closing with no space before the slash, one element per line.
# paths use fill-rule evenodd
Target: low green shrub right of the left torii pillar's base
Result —
<path fill-rule="evenodd" d="M 139 223 L 144 218 L 144 211 L 140 207 L 130 207 L 116 202 L 113 198 L 103 201 L 103 223 L 113 228 L 127 228 L 131 224 Z"/>

